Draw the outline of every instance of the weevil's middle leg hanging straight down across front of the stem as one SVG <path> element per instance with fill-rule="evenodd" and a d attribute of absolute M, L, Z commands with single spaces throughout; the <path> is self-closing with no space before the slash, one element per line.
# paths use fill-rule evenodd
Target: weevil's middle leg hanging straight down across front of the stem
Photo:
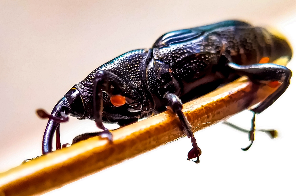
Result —
<path fill-rule="evenodd" d="M 173 93 L 166 93 L 163 96 L 163 103 L 165 104 L 165 106 L 167 108 L 169 108 L 170 110 L 172 110 L 174 113 L 176 113 L 178 115 L 181 125 L 182 125 L 186 135 L 189 138 L 191 138 L 193 148 L 189 151 L 187 160 L 197 158 L 197 160 L 194 162 L 199 163 L 200 162 L 199 156 L 201 155 L 202 151 L 197 146 L 197 142 L 196 142 L 196 139 L 195 139 L 193 132 L 191 130 L 191 126 L 190 126 L 189 122 L 187 121 L 184 113 L 182 112 L 182 108 L 183 108 L 182 101 L 178 98 L 177 95 L 175 95 Z"/>

